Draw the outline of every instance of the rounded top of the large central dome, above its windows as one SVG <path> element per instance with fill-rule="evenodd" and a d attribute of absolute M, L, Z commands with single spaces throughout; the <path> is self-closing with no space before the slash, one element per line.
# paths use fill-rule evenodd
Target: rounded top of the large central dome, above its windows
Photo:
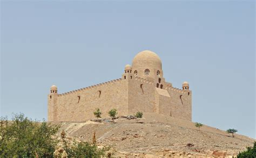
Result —
<path fill-rule="evenodd" d="M 132 61 L 133 69 L 143 67 L 143 68 L 156 68 L 162 69 L 162 62 L 159 56 L 151 51 L 139 52 Z"/>

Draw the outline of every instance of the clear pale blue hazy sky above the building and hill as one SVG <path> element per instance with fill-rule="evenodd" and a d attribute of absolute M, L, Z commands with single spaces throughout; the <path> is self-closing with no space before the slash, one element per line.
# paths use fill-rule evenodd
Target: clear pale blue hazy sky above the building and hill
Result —
<path fill-rule="evenodd" d="M 47 118 L 47 95 L 122 77 L 144 49 L 192 120 L 255 138 L 254 1 L 1 1 L 1 116 Z"/>

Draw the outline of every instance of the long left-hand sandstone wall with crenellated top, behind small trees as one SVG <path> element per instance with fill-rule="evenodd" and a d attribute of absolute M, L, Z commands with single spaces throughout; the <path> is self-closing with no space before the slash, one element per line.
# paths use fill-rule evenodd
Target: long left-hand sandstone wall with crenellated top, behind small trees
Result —
<path fill-rule="evenodd" d="M 116 108 L 118 114 L 126 114 L 128 107 L 127 81 L 118 79 L 85 89 L 58 95 L 55 106 L 56 119 L 49 113 L 49 121 L 84 121 L 95 118 L 93 112 L 98 107 L 102 117 L 108 117 L 107 112 Z M 49 98 L 49 100 L 51 100 Z M 52 104 L 49 104 L 51 109 Z"/>

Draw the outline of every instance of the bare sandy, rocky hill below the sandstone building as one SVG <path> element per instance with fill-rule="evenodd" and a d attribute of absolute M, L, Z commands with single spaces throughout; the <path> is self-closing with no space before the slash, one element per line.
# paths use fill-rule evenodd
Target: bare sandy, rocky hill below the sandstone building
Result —
<path fill-rule="evenodd" d="M 198 128 L 191 121 L 154 113 L 141 119 L 119 117 L 99 122 L 61 123 L 68 137 L 92 141 L 96 131 L 99 146 L 112 146 L 121 157 L 232 157 L 255 139 L 228 134 L 214 127 Z"/>

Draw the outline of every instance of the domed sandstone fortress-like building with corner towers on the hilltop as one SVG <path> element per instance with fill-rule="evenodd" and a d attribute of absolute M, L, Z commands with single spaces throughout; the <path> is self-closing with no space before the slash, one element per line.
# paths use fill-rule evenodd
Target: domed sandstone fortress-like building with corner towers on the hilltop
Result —
<path fill-rule="evenodd" d="M 192 92 L 184 82 L 182 89 L 166 82 L 159 56 L 151 51 L 139 52 L 127 64 L 122 78 L 58 94 L 52 85 L 48 95 L 48 121 L 85 121 L 95 118 L 98 107 L 102 117 L 116 108 L 118 115 L 138 111 L 164 114 L 191 120 Z"/>

